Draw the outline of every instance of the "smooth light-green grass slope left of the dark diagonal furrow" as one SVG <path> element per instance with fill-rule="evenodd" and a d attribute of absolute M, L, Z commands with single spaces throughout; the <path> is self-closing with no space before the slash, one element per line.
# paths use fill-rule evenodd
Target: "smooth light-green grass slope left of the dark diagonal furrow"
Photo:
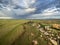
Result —
<path fill-rule="evenodd" d="M 18 38 L 23 30 L 23 23 L 28 20 L 0 20 L 0 45 L 10 45 Z M 3 25 L 4 24 L 4 25 Z"/>

